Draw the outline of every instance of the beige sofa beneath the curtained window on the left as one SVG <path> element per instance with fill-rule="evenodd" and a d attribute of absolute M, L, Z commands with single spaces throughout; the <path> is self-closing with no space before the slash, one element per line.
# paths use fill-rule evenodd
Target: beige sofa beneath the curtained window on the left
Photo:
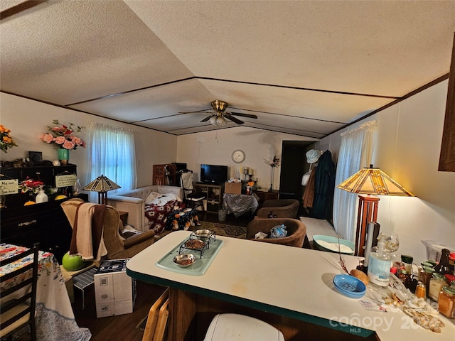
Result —
<path fill-rule="evenodd" d="M 139 231 L 149 229 L 149 220 L 145 217 L 145 202 L 150 193 L 161 194 L 173 193 L 182 198 L 182 189 L 169 185 L 149 185 L 127 192 L 109 195 L 107 205 L 115 207 L 119 211 L 128 212 L 127 223 Z"/>

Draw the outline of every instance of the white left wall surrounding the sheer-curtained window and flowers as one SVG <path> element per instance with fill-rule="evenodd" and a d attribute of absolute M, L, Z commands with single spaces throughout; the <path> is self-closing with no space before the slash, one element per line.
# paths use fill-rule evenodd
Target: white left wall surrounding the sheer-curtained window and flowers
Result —
<path fill-rule="evenodd" d="M 11 136 L 18 144 L 18 147 L 9 149 L 8 153 L 1 152 L 2 161 L 14 161 L 18 158 L 28 157 L 28 151 L 41 151 L 43 160 L 55 160 L 57 158 L 56 149 L 40 140 L 40 136 L 47 131 L 47 126 L 52 125 L 53 119 L 58 119 L 63 124 L 73 122 L 75 125 L 88 126 L 90 121 L 97 121 L 111 126 L 133 129 L 137 155 L 137 187 L 151 184 L 154 164 L 176 161 L 177 138 L 171 134 L 131 124 L 122 124 L 110 119 L 4 93 L 0 93 L 0 115 L 1 124 L 11 130 Z M 85 129 L 78 135 L 82 139 L 87 139 L 87 134 L 87 129 Z M 81 179 L 82 185 L 87 183 L 87 171 L 90 168 L 87 155 L 85 148 L 70 151 L 70 163 L 77 165 L 77 176 Z"/>

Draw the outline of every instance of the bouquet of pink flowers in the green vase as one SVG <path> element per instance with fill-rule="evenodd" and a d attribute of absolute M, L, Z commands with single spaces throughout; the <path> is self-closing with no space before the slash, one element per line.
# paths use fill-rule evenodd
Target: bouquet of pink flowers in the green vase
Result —
<path fill-rule="evenodd" d="M 57 148 L 63 149 L 77 149 L 77 147 L 82 146 L 85 148 L 85 141 L 80 137 L 75 136 L 75 133 L 79 133 L 85 126 L 77 126 L 74 128 L 74 124 L 70 123 L 69 126 L 65 124 L 60 124 L 58 119 L 53 120 L 53 125 L 48 126 L 48 133 L 41 136 L 41 140 L 46 144 L 54 144 Z"/>

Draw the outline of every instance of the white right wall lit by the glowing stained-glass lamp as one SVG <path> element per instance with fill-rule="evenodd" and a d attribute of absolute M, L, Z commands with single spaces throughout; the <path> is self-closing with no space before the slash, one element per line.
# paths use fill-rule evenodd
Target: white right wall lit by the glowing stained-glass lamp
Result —
<path fill-rule="evenodd" d="M 421 240 L 455 247 L 455 173 L 437 170 L 447 84 L 434 85 L 364 120 L 378 121 L 373 165 L 416 195 L 379 196 L 378 222 L 381 229 L 400 237 L 398 253 L 410 254 L 418 262 L 427 259 Z M 329 145 L 335 158 L 341 132 L 320 141 Z"/>

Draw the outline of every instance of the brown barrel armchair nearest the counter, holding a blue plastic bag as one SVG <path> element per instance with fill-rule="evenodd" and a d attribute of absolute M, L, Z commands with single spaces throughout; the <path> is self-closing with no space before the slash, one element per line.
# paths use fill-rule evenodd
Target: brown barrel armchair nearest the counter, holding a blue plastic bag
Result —
<path fill-rule="evenodd" d="M 255 234 L 257 234 L 257 232 L 264 232 L 270 236 L 270 230 L 272 227 L 281 224 L 284 224 L 284 226 L 286 226 L 287 237 L 255 239 Z M 255 220 L 252 220 L 247 225 L 247 239 L 255 240 L 257 242 L 282 244 L 289 247 L 303 247 L 305 235 L 305 224 L 300 220 L 292 218 L 255 218 Z"/>

